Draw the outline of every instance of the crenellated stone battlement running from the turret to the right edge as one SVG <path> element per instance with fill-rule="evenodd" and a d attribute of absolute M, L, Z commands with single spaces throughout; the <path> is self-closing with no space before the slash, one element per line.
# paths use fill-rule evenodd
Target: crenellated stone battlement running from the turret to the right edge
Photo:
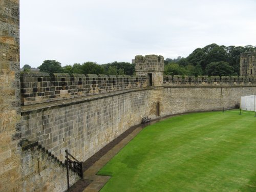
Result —
<path fill-rule="evenodd" d="M 245 76 L 181 76 L 164 75 L 164 86 L 255 86 L 256 79 Z"/>

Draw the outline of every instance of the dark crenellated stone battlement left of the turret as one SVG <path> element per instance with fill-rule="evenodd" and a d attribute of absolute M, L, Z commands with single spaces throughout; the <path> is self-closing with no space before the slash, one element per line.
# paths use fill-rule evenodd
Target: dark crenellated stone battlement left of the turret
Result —
<path fill-rule="evenodd" d="M 147 86 L 145 76 L 28 73 L 20 75 L 22 105 L 70 99 Z"/>

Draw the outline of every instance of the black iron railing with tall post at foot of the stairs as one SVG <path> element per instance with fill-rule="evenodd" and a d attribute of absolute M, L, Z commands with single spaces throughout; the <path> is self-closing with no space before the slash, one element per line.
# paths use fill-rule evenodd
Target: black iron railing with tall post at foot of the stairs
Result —
<path fill-rule="evenodd" d="M 82 161 L 80 162 L 76 158 L 74 158 L 68 152 L 68 150 L 65 150 L 65 152 L 66 152 L 65 164 L 67 166 L 67 179 L 68 179 L 68 189 L 69 189 L 69 168 L 82 178 Z"/>

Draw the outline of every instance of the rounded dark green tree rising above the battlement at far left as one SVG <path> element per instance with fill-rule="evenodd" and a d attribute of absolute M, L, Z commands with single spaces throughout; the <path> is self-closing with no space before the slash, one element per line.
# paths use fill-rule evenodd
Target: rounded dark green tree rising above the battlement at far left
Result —
<path fill-rule="evenodd" d="M 62 73 L 61 63 L 56 60 L 45 60 L 38 68 L 40 72 L 46 72 L 50 75 L 53 73 Z"/>

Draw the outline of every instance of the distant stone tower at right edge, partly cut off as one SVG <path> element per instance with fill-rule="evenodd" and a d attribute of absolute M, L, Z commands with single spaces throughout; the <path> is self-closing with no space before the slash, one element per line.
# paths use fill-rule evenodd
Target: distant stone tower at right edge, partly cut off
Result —
<path fill-rule="evenodd" d="M 256 77 L 256 52 L 241 53 L 240 76 Z"/>

